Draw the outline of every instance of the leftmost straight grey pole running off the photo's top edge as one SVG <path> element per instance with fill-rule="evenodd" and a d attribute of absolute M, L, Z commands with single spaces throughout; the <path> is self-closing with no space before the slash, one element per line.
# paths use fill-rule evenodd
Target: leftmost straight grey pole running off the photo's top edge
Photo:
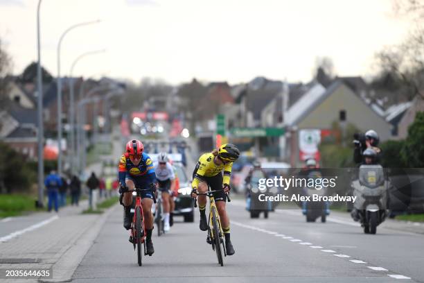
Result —
<path fill-rule="evenodd" d="M 43 138 L 44 138 L 44 127 L 43 127 L 43 80 L 42 80 L 42 68 L 41 68 L 41 51 L 40 51 L 40 35 L 39 35 L 39 8 L 42 0 L 38 1 L 37 7 L 37 142 L 38 142 L 38 203 L 39 207 L 43 207 L 44 196 L 44 151 L 43 151 Z"/>

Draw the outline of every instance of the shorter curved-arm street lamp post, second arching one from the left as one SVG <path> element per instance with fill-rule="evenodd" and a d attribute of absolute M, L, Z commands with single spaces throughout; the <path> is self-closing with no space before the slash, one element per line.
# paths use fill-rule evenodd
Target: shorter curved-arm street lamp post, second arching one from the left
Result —
<path fill-rule="evenodd" d="M 75 123 L 74 123 L 74 117 L 75 117 L 75 103 L 74 103 L 74 84 L 73 84 L 73 68 L 75 68 L 76 63 L 78 63 L 79 60 L 82 58 L 85 58 L 88 55 L 94 55 L 97 53 L 105 52 L 105 49 L 102 50 L 96 50 L 96 51 L 89 51 L 86 53 L 83 53 L 82 55 L 79 55 L 76 60 L 73 61 L 71 66 L 71 71 L 69 71 L 69 123 L 70 123 L 70 135 L 69 135 L 69 149 L 71 157 L 71 173 L 75 173 Z"/>

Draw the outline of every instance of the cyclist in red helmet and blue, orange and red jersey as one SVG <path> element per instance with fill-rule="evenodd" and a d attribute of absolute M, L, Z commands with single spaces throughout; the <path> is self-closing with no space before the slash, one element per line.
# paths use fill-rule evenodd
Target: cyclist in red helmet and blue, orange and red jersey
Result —
<path fill-rule="evenodd" d="M 128 141 L 125 146 L 125 153 L 119 161 L 119 193 L 121 194 L 121 204 L 124 207 L 124 228 L 131 228 L 131 206 L 132 192 L 128 189 L 150 188 L 151 191 L 143 191 L 141 194 L 141 206 L 143 207 L 143 216 L 146 228 L 146 250 L 148 255 L 154 252 L 152 243 L 153 215 L 152 203 L 154 198 L 154 190 L 156 189 L 156 175 L 154 166 L 149 155 L 143 153 L 144 147 L 141 141 L 133 139 Z"/>

